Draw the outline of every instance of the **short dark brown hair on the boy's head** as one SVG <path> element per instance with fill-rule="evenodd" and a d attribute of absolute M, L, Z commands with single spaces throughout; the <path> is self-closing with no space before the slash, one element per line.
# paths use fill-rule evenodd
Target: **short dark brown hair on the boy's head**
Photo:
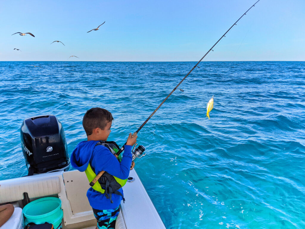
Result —
<path fill-rule="evenodd" d="M 94 107 L 86 112 L 83 118 L 83 127 L 87 136 L 92 134 L 93 129 L 104 130 L 107 122 L 111 122 L 113 117 L 109 111 L 103 108 Z"/>

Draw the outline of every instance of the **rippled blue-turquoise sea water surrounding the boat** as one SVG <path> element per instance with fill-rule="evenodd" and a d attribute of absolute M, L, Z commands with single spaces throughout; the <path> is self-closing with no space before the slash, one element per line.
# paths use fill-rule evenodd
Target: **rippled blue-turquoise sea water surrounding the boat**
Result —
<path fill-rule="evenodd" d="M 195 64 L 0 62 L 0 180 L 27 174 L 24 118 L 56 115 L 71 154 L 85 111 L 103 107 L 124 144 Z M 135 168 L 166 228 L 305 228 L 305 62 L 199 66 L 138 134 Z"/>

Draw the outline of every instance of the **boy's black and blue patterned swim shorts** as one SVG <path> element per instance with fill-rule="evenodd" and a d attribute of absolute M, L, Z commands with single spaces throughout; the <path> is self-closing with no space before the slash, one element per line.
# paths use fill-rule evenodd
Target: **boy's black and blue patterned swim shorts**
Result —
<path fill-rule="evenodd" d="M 114 229 L 120 207 L 116 209 L 97 210 L 93 208 L 94 216 L 97 220 L 98 229 Z"/>

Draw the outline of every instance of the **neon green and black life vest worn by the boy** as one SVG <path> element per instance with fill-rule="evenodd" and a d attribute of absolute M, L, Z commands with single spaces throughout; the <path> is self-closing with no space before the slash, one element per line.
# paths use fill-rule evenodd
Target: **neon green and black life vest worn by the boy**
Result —
<path fill-rule="evenodd" d="M 120 149 L 120 147 L 114 141 L 99 141 L 95 146 L 97 145 L 102 145 L 107 147 L 113 155 Z M 122 157 L 119 155 L 117 159 L 119 160 L 119 162 L 121 162 Z M 88 167 L 85 170 L 89 182 L 91 182 L 97 175 L 95 173 L 95 169 L 91 165 L 91 160 L 92 158 L 90 159 Z M 99 178 L 98 182 L 96 182 L 92 186 L 92 188 L 95 191 L 99 191 L 100 193 L 105 194 L 106 198 L 110 199 L 111 203 L 113 203 L 113 201 L 111 200 L 111 195 L 113 193 L 122 196 L 123 201 L 125 201 L 122 193 L 120 193 L 117 190 L 123 187 L 126 184 L 126 182 L 127 179 L 122 180 L 116 176 L 110 175 L 105 171 L 105 173 Z"/>

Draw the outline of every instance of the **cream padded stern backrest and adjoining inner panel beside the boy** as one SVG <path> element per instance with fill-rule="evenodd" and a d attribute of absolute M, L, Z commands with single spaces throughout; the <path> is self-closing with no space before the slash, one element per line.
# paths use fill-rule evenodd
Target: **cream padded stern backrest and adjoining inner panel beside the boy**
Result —
<path fill-rule="evenodd" d="M 66 179 L 65 181 L 63 176 Z M 84 173 L 74 170 L 64 173 L 63 171 L 58 171 L 1 180 L 0 204 L 20 201 L 24 198 L 24 192 L 28 193 L 29 198 L 58 195 L 62 201 L 61 208 L 64 213 L 63 219 L 65 225 L 93 220 L 95 217 L 85 194 L 86 189 L 88 189 L 86 187 L 88 180 L 84 180 L 83 178 L 87 179 Z M 71 182 L 73 179 L 74 183 Z M 68 181 L 70 181 L 70 184 Z M 65 183 L 67 187 L 65 187 Z"/>

